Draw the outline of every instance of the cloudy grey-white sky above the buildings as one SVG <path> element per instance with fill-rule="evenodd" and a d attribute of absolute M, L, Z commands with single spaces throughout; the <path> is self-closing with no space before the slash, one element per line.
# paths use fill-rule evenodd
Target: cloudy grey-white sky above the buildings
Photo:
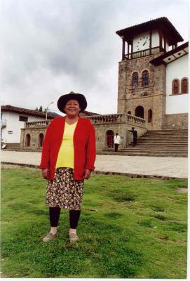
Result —
<path fill-rule="evenodd" d="M 116 113 L 116 30 L 165 16 L 188 41 L 188 0 L 2 0 L 1 104 L 35 109 L 83 93 L 88 111 Z"/>

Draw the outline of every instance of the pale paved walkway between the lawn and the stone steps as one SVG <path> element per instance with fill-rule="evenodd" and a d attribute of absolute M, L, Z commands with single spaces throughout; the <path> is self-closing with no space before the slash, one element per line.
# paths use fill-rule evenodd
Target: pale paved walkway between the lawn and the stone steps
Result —
<path fill-rule="evenodd" d="M 41 152 L 1 151 L 1 162 L 39 166 Z M 145 157 L 97 155 L 95 170 L 134 175 L 188 177 L 188 159 L 179 157 Z"/>

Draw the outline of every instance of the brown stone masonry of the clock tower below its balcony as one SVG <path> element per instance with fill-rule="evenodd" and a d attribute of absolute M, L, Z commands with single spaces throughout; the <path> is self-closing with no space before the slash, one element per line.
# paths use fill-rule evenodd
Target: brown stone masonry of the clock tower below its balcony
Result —
<path fill-rule="evenodd" d="M 137 106 L 144 107 L 144 119 L 148 123 L 148 110 L 153 112 L 151 124 L 147 129 L 163 129 L 165 124 L 165 65 L 154 66 L 150 60 L 161 55 L 119 62 L 118 66 L 118 113 L 131 112 L 135 115 Z M 142 87 L 142 72 L 148 70 L 149 85 Z M 138 86 L 133 89 L 132 75 L 138 73 Z"/>

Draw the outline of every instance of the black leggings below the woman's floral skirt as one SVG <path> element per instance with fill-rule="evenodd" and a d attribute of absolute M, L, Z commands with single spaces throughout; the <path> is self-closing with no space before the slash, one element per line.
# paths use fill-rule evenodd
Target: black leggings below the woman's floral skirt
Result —
<path fill-rule="evenodd" d="M 60 212 L 61 212 L 60 207 L 50 207 L 50 209 L 49 209 L 50 226 L 52 226 L 52 227 L 58 226 Z M 79 211 L 70 210 L 69 211 L 70 228 L 75 229 L 78 226 L 80 214 L 81 214 L 81 210 L 79 210 Z"/>

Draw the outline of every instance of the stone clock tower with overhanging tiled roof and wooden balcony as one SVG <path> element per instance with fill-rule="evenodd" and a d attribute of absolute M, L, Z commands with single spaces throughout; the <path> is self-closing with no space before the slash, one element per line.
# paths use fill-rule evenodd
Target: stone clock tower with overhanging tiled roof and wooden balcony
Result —
<path fill-rule="evenodd" d="M 165 123 L 165 65 L 151 60 L 183 41 L 168 18 L 150 20 L 118 30 L 122 39 L 118 63 L 118 113 L 146 119 L 147 129 L 163 129 Z"/>

